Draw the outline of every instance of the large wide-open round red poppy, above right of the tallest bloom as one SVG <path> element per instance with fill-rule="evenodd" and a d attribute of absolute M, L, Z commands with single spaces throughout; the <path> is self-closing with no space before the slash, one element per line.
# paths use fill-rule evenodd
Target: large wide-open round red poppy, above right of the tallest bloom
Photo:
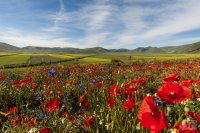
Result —
<path fill-rule="evenodd" d="M 167 102 L 181 102 L 190 98 L 190 89 L 177 83 L 168 82 L 157 90 L 158 96 Z"/>

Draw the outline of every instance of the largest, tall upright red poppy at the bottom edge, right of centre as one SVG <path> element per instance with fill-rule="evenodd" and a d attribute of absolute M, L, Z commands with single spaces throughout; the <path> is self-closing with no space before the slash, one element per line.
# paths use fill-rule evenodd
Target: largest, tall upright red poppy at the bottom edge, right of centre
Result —
<path fill-rule="evenodd" d="M 153 98 L 149 96 L 146 96 L 142 101 L 141 108 L 138 112 L 138 119 L 151 133 L 158 133 L 168 127 L 164 112 L 159 112 Z"/>

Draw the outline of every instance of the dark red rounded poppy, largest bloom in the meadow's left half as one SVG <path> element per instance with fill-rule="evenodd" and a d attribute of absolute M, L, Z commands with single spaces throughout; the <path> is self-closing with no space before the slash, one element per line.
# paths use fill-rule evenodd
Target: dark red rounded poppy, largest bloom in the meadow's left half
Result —
<path fill-rule="evenodd" d="M 60 99 L 59 98 L 52 98 L 45 105 L 47 110 L 50 111 L 50 112 L 53 112 L 53 111 L 59 109 L 59 106 L 60 106 Z"/>

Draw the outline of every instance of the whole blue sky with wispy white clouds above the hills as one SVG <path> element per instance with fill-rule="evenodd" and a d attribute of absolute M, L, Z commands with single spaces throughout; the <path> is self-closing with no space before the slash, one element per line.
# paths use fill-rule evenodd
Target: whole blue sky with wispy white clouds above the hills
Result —
<path fill-rule="evenodd" d="M 134 49 L 200 41 L 200 0 L 0 0 L 0 42 Z"/>

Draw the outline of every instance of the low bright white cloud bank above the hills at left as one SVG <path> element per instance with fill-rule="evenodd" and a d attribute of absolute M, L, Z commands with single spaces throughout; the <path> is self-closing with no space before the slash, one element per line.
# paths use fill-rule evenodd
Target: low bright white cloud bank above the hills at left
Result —
<path fill-rule="evenodd" d="M 68 42 L 67 38 L 52 39 L 44 35 L 29 35 L 14 28 L 6 28 L 3 33 L 0 33 L 0 40 L 7 43 L 25 47 L 25 46 L 40 46 L 40 47 L 79 47 L 78 44 Z"/>

